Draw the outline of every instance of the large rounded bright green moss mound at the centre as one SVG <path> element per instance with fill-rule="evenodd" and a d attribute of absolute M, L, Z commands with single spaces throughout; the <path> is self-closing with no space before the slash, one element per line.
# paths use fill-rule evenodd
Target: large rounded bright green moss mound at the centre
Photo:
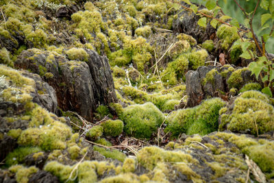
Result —
<path fill-rule="evenodd" d="M 125 133 L 136 138 L 149 138 L 164 121 L 164 114 L 149 102 L 128 106 L 121 119 L 125 123 Z"/>

